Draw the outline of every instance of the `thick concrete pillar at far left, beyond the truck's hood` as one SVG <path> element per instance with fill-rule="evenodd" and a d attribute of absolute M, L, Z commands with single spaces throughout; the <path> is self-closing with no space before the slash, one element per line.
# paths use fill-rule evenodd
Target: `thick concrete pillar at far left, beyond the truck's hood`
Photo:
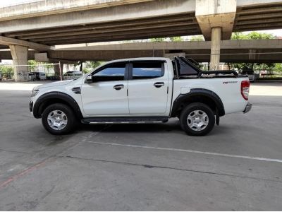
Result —
<path fill-rule="evenodd" d="M 13 65 L 15 70 L 15 81 L 28 81 L 27 52 L 28 48 L 19 45 L 10 45 Z"/>

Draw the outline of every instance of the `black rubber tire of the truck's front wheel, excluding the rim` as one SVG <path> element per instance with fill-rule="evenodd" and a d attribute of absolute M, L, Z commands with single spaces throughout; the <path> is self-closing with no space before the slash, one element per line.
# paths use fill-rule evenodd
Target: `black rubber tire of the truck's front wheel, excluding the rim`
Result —
<path fill-rule="evenodd" d="M 52 129 L 51 126 L 49 126 L 48 124 L 48 119 L 47 119 L 48 115 L 50 112 L 54 110 L 59 110 L 64 114 L 66 114 L 67 124 L 63 126 L 63 129 Z M 76 122 L 75 115 L 73 114 L 73 110 L 71 110 L 71 107 L 68 107 L 68 105 L 64 105 L 60 103 L 49 105 L 42 114 L 42 124 L 44 128 L 47 131 L 49 131 L 50 134 L 54 134 L 54 135 L 63 135 L 70 133 L 71 131 L 73 131 L 75 122 Z"/>

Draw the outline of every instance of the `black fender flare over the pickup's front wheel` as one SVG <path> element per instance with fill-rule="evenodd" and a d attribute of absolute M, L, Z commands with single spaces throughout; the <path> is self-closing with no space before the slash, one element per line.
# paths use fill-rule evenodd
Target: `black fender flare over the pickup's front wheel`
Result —
<path fill-rule="evenodd" d="M 56 103 L 56 100 L 60 103 L 66 102 L 68 106 L 73 109 L 75 117 L 78 119 L 83 118 L 78 102 L 76 102 L 71 95 L 57 91 L 45 93 L 36 100 L 35 105 L 33 106 L 33 116 L 37 119 L 41 118 L 44 106 L 49 104 L 50 101 L 54 101 L 54 103 Z"/>

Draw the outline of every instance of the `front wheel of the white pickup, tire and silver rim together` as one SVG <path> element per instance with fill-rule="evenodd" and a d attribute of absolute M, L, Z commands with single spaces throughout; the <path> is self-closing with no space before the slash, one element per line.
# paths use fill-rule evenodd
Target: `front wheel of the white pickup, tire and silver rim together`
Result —
<path fill-rule="evenodd" d="M 64 104 L 49 105 L 42 114 L 42 124 L 51 134 L 68 134 L 75 126 L 73 110 Z"/>

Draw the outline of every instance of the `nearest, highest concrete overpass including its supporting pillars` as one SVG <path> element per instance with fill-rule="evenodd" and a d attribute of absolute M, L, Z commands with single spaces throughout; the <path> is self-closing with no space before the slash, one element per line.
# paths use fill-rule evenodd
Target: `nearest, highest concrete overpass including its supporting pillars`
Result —
<path fill-rule="evenodd" d="M 233 31 L 282 28 L 278 0 L 48 0 L 0 8 L 0 45 L 15 64 L 27 48 L 52 52 L 54 45 L 203 34 L 211 67 L 219 64 L 221 40 Z M 52 54 L 52 53 L 49 53 Z M 26 68 L 16 70 L 25 81 Z"/>

